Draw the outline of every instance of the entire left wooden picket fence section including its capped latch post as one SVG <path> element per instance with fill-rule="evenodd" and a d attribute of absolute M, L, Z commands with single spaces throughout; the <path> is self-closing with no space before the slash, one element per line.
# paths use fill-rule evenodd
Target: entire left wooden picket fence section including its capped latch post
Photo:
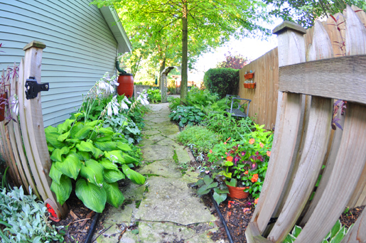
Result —
<path fill-rule="evenodd" d="M 41 82 L 41 61 L 45 45 L 38 41 L 28 43 L 18 70 L 18 78 L 9 75 L 7 82 L 8 96 L 18 97 L 19 114 L 10 109 L 15 121 L 0 122 L 0 153 L 9 166 L 9 173 L 14 183 L 23 185 L 29 193 L 29 187 L 39 199 L 55 210 L 57 217 L 66 214 L 66 205 L 61 207 L 55 194 L 50 190 L 51 178 L 48 176 L 51 161 L 45 141 L 41 93 L 34 99 L 26 99 L 26 80 L 34 77 Z M 3 77 L 6 76 L 4 70 Z M 7 107 L 9 109 L 10 107 Z M 47 206 L 48 206 L 47 205 Z"/>

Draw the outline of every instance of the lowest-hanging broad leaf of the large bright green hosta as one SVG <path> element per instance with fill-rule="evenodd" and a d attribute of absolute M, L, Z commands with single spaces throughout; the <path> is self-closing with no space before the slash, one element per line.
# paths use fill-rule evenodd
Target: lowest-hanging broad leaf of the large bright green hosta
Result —
<path fill-rule="evenodd" d="M 100 188 L 80 178 L 76 182 L 75 193 L 87 208 L 95 212 L 103 212 L 107 202 L 107 193 L 103 187 Z"/>

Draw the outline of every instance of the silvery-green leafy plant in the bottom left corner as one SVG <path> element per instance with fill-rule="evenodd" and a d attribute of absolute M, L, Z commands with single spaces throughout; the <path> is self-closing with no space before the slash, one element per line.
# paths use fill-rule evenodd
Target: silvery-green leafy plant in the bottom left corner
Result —
<path fill-rule="evenodd" d="M 31 192 L 31 188 L 30 188 Z M 36 195 L 24 195 L 23 188 L 13 188 L 0 193 L 1 242 L 63 242 L 55 226 L 50 226 L 47 208 L 36 201 Z"/>

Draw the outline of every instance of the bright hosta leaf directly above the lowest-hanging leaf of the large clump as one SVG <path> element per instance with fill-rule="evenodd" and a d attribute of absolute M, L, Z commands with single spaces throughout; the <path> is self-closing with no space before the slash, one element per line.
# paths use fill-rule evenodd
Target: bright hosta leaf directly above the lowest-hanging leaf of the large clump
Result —
<path fill-rule="evenodd" d="M 104 167 L 101 164 L 90 159 L 85 161 L 85 165 L 81 166 L 80 175 L 87 179 L 88 182 L 101 187 L 104 181 L 103 171 Z"/>

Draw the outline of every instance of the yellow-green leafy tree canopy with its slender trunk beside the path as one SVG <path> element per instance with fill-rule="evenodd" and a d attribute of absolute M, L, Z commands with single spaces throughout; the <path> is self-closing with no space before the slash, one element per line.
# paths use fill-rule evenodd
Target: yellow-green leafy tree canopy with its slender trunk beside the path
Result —
<path fill-rule="evenodd" d="M 119 9 L 127 31 L 132 31 L 134 26 L 133 35 L 139 35 L 136 37 L 139 43 L 148 46 L 153 53 L 158 53 L 155 52 L 158 43 L 167 38 L 164 47 L 171 46 L 171 49 L 162 48 L 161 55 L 155 58 L 159 62 L 163 62 L 163 58 L 166 61 L 176 58 L 181 63 L 182 102 L 187 96 L 189 62 L 229 41 L 231 36 L 249 36 L 254 31 L 269 33 L 259 26 L 267 16 L 265 5 L 257 0 L 95 0 L 92 4 L 114 5 Z"/>

